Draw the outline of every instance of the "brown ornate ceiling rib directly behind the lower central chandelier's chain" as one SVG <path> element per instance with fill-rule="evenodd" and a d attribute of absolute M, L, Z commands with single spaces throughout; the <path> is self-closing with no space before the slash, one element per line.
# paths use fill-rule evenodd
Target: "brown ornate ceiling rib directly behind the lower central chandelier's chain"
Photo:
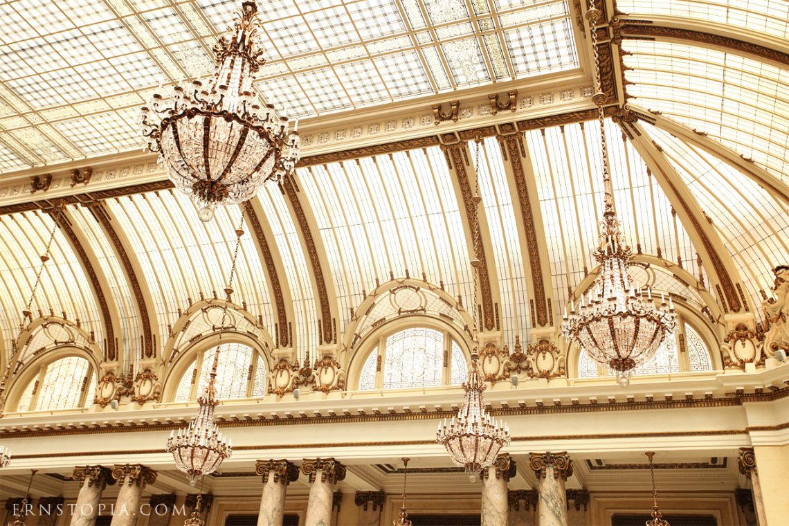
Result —
<path fill-rule="evenodd" d="M 487 330 L 494 330 L 495 328 L 495 313 L 493 308 L 493 294 L 491 291 L 490 274 L 488 274 L 488 260 L 485 254 L 484 243 L 482 242 L 482 231 L 479 226 L 479 214 L 483 211 L 477 211 L 479 205 L 473 202 L 473 190 L 469 183 L 469 174 L 466 171 L 466 166 L 469 163 L 466 151 L 466 143 L 458 142 L 455 144 L 442 145 L 444 154 L 447 155 L 447 160 L 450 161 L 451 168 L 454 168 L 455 176 L 458 180 L 460 193 L 463 198 L 463 206 L 466 211 L 466 219 L 469 223 L 469 229 L 472 237 L 472 244 L 476 246 L 477 253 L 474 256 L 480 260 L 480 266 L 477 267 L 477 272 L 480 277 L 480 295 L 482 299 L 482 318 L 484 320 L 484 327 Z M 479 239 L 474 239 L 474 233 L 477 233 Z M 469 307 L 467 307 L 469 308 Z M 477 308 L 477 305 L 473 305 Z"/>

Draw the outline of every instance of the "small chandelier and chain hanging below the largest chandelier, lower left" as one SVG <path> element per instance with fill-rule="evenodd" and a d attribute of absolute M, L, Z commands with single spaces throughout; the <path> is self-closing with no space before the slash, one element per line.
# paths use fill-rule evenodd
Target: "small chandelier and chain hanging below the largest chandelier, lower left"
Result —
<path fill-rule="evenodd" d="M 236 262 L 238 251 L 241 248 L 241 236 L 244 235 L 244 214 L 245 203 L 241 211 L 241 221 L 236 229 L 236 246 L 233 252 L 233 264 L 230 267 L 230 277 L 225 287 L 226 303 L 222 307 L 222 321 L 219 323 L 219 342 L 214 352 L 214 360 L 211 364 L 208 386 L 202 397 L 197 398 L 199 408 L 197 415 L 189 422 L 189 427 L 179 429 L 178 435 L 170 431 L 170 438 L 167 440 L 166 451 L 172 453 L 175 464 L 182 472 L 186 473 L 189 483 L 196 485 L 200 476 L 205 476 L 216 471 L 222 461 L 230 458 L 233 454 L 233 441 L 222 437 L 219 427 L 215 421 L 215 408 L 219 405 L 216 398 L 216 369 L 219 366 L 219 353 L 222 349 L 222 332 L 225 330 L 227 319 L 227 304 L 233 294 L 233 278 L 236 272 Z"/>

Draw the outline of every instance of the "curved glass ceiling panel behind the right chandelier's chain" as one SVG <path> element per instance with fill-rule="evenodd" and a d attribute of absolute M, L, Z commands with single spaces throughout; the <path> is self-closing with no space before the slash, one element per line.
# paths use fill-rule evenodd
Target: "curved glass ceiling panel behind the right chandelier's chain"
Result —
<path fill-rule="evenodd" d="M 696 267 L 696 249 L 684 226 L 671 214 L 654 177 L 622 131 L 606 121 L 611 181 L 623 233 L 634 253 Z M 596 125 L 573 124 L 525 134 L 532 156 L 542 207 L 554 294 L 561 315 L 574 289 L 596 267 L 597 224 L 601 219 L 603 183 L 600 133 Z"/>

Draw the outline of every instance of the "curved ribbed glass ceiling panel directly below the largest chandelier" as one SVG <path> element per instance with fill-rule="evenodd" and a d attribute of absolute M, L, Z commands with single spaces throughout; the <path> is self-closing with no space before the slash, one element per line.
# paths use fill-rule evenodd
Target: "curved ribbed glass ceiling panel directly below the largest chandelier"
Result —
<path fill-rule="evenodd" d="M 240 207 L 219 207 L 211 222 L 197 218 L 191 201 L 175 191 L 153 192 L 107 201 L 118 226 L 129 237 L 151 290 L 159 319 L 159 338 L 167 341 L 168 325 L 178 320 L 178 309 L 204 297 L 224 297 L 236 242 Z M 262 315 L 273 334 L 274 318 L 263 264 L 242 226 L 233 300 L 245 301 L 253 315 Z"/>

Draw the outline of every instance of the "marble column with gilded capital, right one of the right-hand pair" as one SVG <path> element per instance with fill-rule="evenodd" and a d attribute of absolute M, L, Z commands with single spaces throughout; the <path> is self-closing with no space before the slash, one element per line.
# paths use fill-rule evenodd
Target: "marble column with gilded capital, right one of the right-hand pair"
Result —
<path fill-rule="evenodd" d="M 540 526 L 567 526 L 565 483 L 573 474 L 573 461 L 562 453 L 529 453 L 529 467 L 540 481 Z"/>

